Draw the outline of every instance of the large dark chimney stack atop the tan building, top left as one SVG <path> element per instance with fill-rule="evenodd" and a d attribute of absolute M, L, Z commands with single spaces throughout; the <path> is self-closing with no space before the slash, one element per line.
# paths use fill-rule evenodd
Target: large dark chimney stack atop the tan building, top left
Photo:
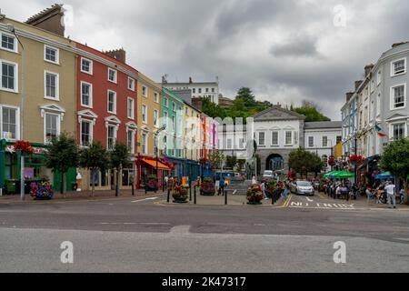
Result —
<path fill-rule="evenodd" d="M 64 37 L 64 8 L 63 5 L 55 4 L 25 21 L 27 25 L 42 28 L 55 35 Z"/>

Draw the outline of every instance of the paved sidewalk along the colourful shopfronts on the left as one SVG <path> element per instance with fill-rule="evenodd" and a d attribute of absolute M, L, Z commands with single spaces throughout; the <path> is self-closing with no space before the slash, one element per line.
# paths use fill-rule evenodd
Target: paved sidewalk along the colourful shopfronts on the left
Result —
<path fill-rule="evenodd" d="M 47 202 L 47 203 L 54 203 L 54 202 L 62 202 L 62 201 L 98 201 L 98 200 L 105 200 L 105 199 L 118 199 L 118 198 L 125 198 L 125 197 L 144 197 L 144 196 L 159 196 L 163 195 L 162 191 L 155 192 L 148 192 L 145 194 L 144 189 L 135 189 L 135 196 L 132 196 L 132 190 L 124 189 L 119 191 L 119 196 L 115 196 L 115 190 L 95 190 L 94 196 L 92 196 L 91 190 L 89 191 L 68 191 L 65 195 L 60 193 L 55 193 L 53 199 L 51 200 L 35 200 L 29 194 L 25 195 L 25 200 L 22 201 L 20 199 L 20 195 L 5 195 L 0 196 L 0 204 L 9 204 L 9 203 L 36 203 L 38 201 Z"/>

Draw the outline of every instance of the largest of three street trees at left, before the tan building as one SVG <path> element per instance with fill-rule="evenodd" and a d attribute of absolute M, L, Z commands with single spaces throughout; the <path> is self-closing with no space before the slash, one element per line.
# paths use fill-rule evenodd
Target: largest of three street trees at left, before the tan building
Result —
<path fill-rule="evenodd" d="M 61 173 L 61 194 L 64 194 L 65 174 L 71 167 L 78 166 L 79 151 L 75 137 L 63 132 L 46 146 L 45 166 Z"/>

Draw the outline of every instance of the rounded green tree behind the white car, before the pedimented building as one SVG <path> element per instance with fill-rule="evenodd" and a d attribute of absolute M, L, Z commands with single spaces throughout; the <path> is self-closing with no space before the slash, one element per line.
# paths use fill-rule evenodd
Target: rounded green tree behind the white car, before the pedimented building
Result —
<path fill-rule="evenodd" d="M 315 173 L 316 176 L 323 169 L 324 162 L 319 156 L 300 147 L 290 153 L 288 166 L 301 176 L 308 173 Z"/>

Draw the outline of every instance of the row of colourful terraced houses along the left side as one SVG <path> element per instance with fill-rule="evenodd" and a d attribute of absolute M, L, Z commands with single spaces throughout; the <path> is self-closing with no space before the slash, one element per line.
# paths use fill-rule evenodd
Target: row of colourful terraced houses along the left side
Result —
<path fill-rule="evenodd" d="M 63 9 L 53 5 L 25 23 L 0 15 L 1 186 L 20 178 L 13 145 L 25 140 L 35 147 L 25 161 L 25 176 L 47 176 L 59 188 L 61 175 L 44 166 L 44 152 L 63 131 L 75 135 L 79 146 L 126 144 L 131 163 L 118 181 L 123 188 L 134 176 L 137 186 L 151 174 L 159 181 L 165 175 L 205 176 L 218 140 L 215 121 L 189 98 L 127 65 L 124 49 L 101 52 L 65 37 Z M 78 172 L 83 189 L 116 185 L 113 171 L 91 175 L 73 168 L 68 189 Z"/>

